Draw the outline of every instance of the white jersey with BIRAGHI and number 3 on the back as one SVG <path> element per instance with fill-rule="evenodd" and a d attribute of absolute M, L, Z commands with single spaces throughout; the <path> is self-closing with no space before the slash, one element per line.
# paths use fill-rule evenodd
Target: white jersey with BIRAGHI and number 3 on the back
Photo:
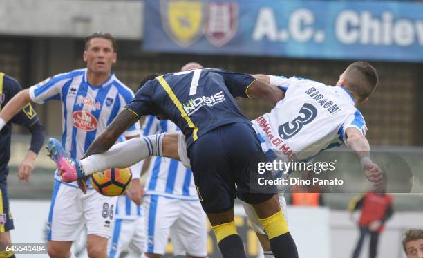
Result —
<path fill-rule="evenodd" d="M 285 98 L 256 120 L 253 127 L 268 158 L 308 160 L 320 151 L 346 142 L 346 129 L 367 128 L 354 98 L 341 86 L 297 77 L 270 76 Z M 269 157 L 270 156 L 270 157 Z"/>

